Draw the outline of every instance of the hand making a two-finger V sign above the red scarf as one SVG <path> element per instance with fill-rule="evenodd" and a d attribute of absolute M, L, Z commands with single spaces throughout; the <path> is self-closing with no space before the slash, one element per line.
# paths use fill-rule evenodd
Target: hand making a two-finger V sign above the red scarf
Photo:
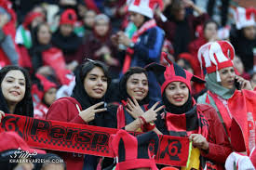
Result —
<path fill-rule="evenodd" d="M 92 120 L 94 120 L 95 118 L 95 113 L 96 112 L 101 112 L 101 111 L 107 111 L 106 108 L 102 108 L 102 109 L 96 109 L 98 107 L 100 107 L 102 104 L 104 104 L 104 102 L 100 102 L 100 103 L 96 103 L 95 105 L 92 105 L 91 107 L 89 107 L 88 109 L 84 110 L 84 111 L 79 111 L 79 116 L 86 122 L 90 122 Z"/>

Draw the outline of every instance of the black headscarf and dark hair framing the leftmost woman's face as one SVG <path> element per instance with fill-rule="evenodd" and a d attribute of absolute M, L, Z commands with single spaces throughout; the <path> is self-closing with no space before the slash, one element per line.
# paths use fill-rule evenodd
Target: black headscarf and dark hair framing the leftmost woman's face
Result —
<path fill-rule="evenodd" d="M 7 75 L 7 72 L 10 71 L 20 71 L 24 74 L 26 87 L 25 87 L 25 95 L 24 98 L 16 105 L 14 114 L 34 117 L 34 107 L 33 107 L 33 99 L 31 95 L 31 81 L 29 73 L 19 66 L 9 65 L 0 70 L 0 85 L 4 78 Z M 7 100 L 3 96 L 2 88 L 0 89 L 0 111 L 4 111 L 9 113 L 9 109 L 7 107 Z"/>

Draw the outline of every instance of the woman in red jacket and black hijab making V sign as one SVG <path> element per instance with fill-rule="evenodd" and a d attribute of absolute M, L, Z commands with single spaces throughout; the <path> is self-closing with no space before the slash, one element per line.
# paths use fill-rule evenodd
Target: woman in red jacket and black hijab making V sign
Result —
<path fill-rule="evenodd" d="M 72 97 L 55 101 L 47 112 L 47 120 L 74 124 L 90 124 L 112 127 L 113 119 L 104 105 L 104 96 L 111 79 L 101 61 L 90 60 L 75 75 Z M 74 153 L 61 153 L 67 170 L 82 169 L 84 158 Z M 98 157 L 85 155 L 87 169 L 96 169 Z"/>

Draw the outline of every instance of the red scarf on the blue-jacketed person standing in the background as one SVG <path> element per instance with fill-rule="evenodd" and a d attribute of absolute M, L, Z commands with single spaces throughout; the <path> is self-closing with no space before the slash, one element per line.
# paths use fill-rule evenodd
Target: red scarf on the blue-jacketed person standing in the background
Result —
<path fill-rule="evenodd" d="M 156 22 L 155 20 L 148 20 L 146 21 L 142 26 L 141 28 L 132 35 L 132 38 L 131 38 L 131 41 L 132 43 L 137 43 L 138 41 L 138 38 L 141 36 L 141 34 L 145 33 L 146 31 L 148 31 L 149 29 L 153 28 L 156 26 Z M 127 72 L 128 71 L 128 68 L 130 66 L 130 62 L 131 62 L 131 56 L 133 55 L 134 53 L 134 49 L 128 47 L 127 49 L 127 55 L 126 55 L 126 58 L 125 58 L 125 61 L 124 61 L 124 66 L 123 66 L 123 73 Z"/>

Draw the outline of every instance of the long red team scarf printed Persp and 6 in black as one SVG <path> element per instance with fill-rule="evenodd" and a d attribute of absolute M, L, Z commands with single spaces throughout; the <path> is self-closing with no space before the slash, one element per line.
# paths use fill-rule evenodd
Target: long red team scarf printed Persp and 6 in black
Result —
<path fill-rule="evenodd" d="M 2 119 L 0 130 L 17 132 L 32 148 L 104 157 L 114 157 L 109 149 L 109 139 L 118 131 L 114 128 L 46 121 L 15 114 L 6 114 Z M 135 136 L 141 134 L 130 133 Z M 157 150 L 155 163 L 186 165 L 189 156 L 188 137 L 159 136 L 159 141 L 160 145 L 157 149 L 151 147 L 151 150 Z"/>

